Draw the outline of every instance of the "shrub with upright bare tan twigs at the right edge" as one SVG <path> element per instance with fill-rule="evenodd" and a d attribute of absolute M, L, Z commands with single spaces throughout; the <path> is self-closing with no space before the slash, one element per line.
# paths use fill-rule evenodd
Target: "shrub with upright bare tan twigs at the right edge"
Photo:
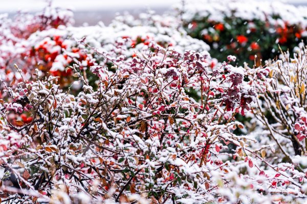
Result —
<path fill-rule="evenodd" d="M 282 52 L 281 60 L 262 68 L 267 78 L 255 77 L 259 95 L 255 116 L 288 162 L 306 154 L 306 66 L 307 49 L 301 45 L 293 58 Z"/>

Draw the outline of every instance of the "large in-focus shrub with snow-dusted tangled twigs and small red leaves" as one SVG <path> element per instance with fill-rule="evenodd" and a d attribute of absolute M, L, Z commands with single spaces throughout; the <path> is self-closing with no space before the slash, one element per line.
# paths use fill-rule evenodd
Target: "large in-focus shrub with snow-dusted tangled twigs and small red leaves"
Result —
<path fill-rule="evenodd" d="M 2 144 L 2 200 L 268 199 L 254 188 L 259 184 L 253 176 L 262 171 L 245 146 L 249 138 L 233 134 L 243 128 L 235 115 L 255 100 L 245 70 L 231 65 L 233 56 L 212 69 L 206 52 L 181 54 L 158 44 L 153 50 L 109 59 L 112 69 L 92 66 L 97 89 L 73 65 L 82 84 L 77 95 L 57 85 L 59 77 L 38 70 L 33 81 L 6 86 L 1 139 L 11 139 Z M 264 186 L 269 179 L 261 177 Z"/>

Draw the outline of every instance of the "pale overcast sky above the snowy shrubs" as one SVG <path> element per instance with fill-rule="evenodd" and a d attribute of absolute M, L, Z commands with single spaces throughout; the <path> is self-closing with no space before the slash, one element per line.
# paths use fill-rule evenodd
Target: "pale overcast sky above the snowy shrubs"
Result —
<path fill-rule="evenodd" d="M 134 16 L 138 16 L 141 12 L 146 12 L 148 9 L 155 10 L 156 13 L 162 14 L 171 9 L 173 5 L 180 4 L 181 1 L 182 0 L 53 0 L 52 4 L 55 7 L 73 10 L 75 13 L 75 25 L 79 26 L 85 22 L 94 25 L 99 21 L 109 24 L 118 12 L 123 13 L 124 11 L 128 11 Z M 280 1 L 307 6 L 307 0 Z M 11 16 L 18 10 L 27 12 L 41 11 L 46 7 L 47 3 L 48 0 L 0 0 L 0 14 L 9 13 Z"/>

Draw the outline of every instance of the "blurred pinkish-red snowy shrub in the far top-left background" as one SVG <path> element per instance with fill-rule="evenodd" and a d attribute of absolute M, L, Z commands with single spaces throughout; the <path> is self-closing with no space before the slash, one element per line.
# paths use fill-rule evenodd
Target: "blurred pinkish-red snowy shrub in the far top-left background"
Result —
<path fill-rule="evenodd" d="M 59 28 L 73 23 L 73 13 L 69 10 L 46 7 L 34 15 L 18 13 L 13 18 L 0 15 L 0 68 L 11 65 L 17 54 L 28 45 L 25 43 L 37 31 Z"/>

